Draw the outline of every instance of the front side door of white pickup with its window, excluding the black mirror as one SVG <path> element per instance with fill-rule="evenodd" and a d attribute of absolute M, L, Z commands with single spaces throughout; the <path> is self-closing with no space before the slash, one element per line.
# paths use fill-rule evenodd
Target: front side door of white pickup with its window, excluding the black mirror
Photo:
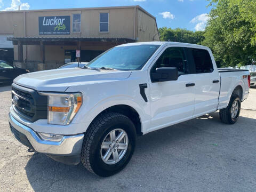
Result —
<path fill-rule="evenodd" d="M 153 83 L 151 74 L 160 67 L 178 68 L 177 81 Z M 195 86 L 190 82 L 190 78 L 194 74 L 189 73 L 190 67 L 183 47 L 166 47 L 149 67 L 149 131 L 193 118 Z"/>

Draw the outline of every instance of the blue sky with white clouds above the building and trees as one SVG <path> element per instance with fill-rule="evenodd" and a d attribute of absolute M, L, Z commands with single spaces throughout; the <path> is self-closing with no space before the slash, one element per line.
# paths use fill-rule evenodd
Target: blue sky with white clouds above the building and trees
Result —
<path fill-rule="evenodd" d="M 157 26 L 204 30 L 207 13 L 206 0 L 0 0 L 0 11 L 67 9 L 81 7 L 140 5 L 156 17 Z"/>

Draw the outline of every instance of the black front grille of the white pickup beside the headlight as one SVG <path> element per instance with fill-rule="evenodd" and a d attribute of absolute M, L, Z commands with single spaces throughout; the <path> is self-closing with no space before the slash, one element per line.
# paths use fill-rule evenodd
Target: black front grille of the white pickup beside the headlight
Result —
<path fill-rule="evenodd" d="M 35 122 L 38 119 L 47 118 L 47 97 L 39 95 L 37 91 L 26 87 L 12 84 L 12 98 L 16 95 L 18 103 L 13 109 L 22 118 L 30 122 Z"/>

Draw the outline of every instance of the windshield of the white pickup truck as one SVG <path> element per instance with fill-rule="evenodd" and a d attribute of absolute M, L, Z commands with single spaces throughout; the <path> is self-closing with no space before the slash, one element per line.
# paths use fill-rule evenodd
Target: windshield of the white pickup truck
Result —
<path fill-rule="evenodd" d="M 159 45 L 131 45 L 114 47 L 87 64 L 90 68 L 140 70 L 155 53 Z"/>

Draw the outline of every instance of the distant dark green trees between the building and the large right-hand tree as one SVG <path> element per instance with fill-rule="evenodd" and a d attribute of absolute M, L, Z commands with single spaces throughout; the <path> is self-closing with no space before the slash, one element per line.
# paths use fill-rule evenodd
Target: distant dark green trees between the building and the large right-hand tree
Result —
<path fill-rule="evenodd" d="M 204 40 L 204 31 L 190 31 L 186 29 L 158 29 L 161 41 L 200 44 Z"/>

